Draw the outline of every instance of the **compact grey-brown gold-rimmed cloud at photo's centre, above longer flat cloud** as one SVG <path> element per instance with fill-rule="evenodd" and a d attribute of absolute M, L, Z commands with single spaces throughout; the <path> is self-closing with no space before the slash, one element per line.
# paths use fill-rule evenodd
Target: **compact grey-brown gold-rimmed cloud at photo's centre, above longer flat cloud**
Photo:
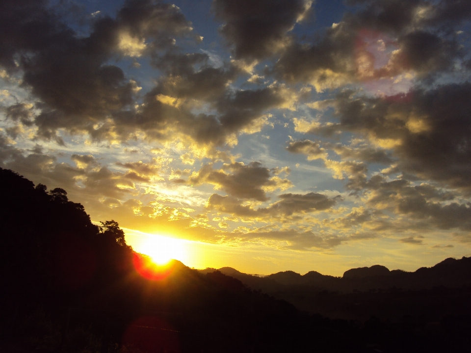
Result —
<path fill-rule="evenodd" d="M 240 162 L 224 164 L 220 170 L 214 170 L 211 164 L 207 164 L 193 173 L 188 178 L 188 183 L 193 185 L 209 183 L 236 198 L 264 202 L 269 200 L 266 191 L 286 190 L 292 186 L 288 179 L 273 176 L 276 172 L 278 170 L 269 170 L 262 167 L 259 162 L 248 165 Z"/>

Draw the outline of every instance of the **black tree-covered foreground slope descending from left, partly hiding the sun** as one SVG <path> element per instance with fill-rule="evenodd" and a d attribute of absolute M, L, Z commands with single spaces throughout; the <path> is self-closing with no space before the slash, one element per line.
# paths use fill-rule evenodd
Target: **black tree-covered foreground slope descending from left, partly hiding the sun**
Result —
<path fill-rule="evenodd" d="M 331 320 L 178 261 L 139 266 L 113 221 L 0 169 L 0 352 L 466 352 L 470 320 Z"/>

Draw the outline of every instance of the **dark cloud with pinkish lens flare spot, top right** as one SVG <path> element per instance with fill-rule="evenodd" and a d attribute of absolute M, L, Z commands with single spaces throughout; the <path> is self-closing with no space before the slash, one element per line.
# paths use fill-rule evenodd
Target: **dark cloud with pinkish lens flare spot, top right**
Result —
<path fill-rule="evenodd" d="M 471 19 L 468 1 L 378 0 L 352 4 L 360 5 L 358 11 L 346 13 L 339 24 L 328 28 L 312 44 L 293 42 L 275 64 L 275 75 L 323 90 L 410 70 L 419 77 L 433 76 L 454 70 L 455 59 L 462 59 L 466 53 L 454 29 Z M 385 57 L 388 60 L 383 62 Z"/>

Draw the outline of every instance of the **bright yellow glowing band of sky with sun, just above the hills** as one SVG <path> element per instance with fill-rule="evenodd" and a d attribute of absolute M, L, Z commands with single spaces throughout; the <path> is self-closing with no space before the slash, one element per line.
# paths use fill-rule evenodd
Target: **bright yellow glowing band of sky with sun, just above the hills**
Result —
<path fill-rule="evenodd" d="M 170 259 L 181 261 L 195 269 L 232 267 L 252 275 L 270 275 L 287 269 L 302 275 L 317 271 L 323 275 L 342 276 L 343 272 L 356 267 L 381 264 L 390 270 L 415 271 L 421 266 L 433 266 L 447 256 L 441 249 L 415 252 L 404 249 L 394 239 L 378 239 L 374 243 L 362 242 L 362 251 L 355 247 L 344 247 L 339 252 L 299 252 L 283 248 L 267 248 L 253 243 L 210 244 L 184 240 L 170 234 L 151 234 L 123 228 L 126 242 L 135 252 L 151 256 L 157 264 Z M 387 254 L 376 254 L 377 248 L 388 248 Z M 468 254 L 470 256 L 471 254 Z M 456 255 L 455 257 L 459 257 Z M 367 260 L 365 260 L 365 258 Z M 417 265 L 419 261 L 420 266 Z"/>

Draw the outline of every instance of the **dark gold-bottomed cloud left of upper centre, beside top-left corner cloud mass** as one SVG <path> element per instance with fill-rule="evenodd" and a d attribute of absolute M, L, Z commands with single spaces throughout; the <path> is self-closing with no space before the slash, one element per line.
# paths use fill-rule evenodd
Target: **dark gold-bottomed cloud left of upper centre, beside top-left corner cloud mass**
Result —
<path fill-rule="evenodd" d="M 234 78 L 234 68 L 184 71 L 180 72 L 182 75 L 169 73 L 160 78 L 157 87 L 146 94 L 142 107 L 114 114 L 116 126 L 104 126 L 93 133 L 100 139 L 106 137 L 109 129 L 114 129 L 127 139 L 140 129 L 150 138 L 174 140 L 176 134 L 184 134 L 200 145 L 220 146 L 228 139 L 234 141 L 241 132 L 260 131 L 267 123 L 267 111 L 293 109 L 297 99 L 297 95 L 282 84 L 234 91 L 227 87 Z M 192 112 L 204 103 L 210 104 L 214 114 Z"/>

